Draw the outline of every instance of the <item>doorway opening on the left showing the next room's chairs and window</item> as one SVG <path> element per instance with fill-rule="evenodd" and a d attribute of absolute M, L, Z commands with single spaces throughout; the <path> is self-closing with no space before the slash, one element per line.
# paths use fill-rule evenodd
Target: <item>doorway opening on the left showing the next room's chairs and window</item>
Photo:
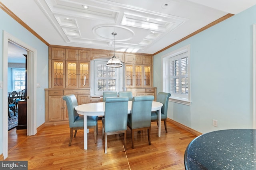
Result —
<path fill-rule="evenodd" d="M 16 102 L 10 105 L 8 111 L 8 131 L 14 128 L 26 129 L 26 101 L 23 101 L 27 84 L 26 56 L 27 51 L 24 48 L 8 41 L 8 95 L 17 92 Z"/>

